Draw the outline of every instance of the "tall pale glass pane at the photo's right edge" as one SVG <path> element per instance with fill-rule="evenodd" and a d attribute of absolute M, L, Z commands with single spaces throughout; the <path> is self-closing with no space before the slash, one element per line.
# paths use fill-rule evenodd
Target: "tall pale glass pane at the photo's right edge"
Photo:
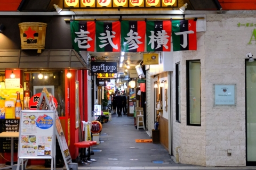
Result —
<path fill-rule="evenodd" d="M 256 162 L 256 62 L 246 61 L 246 156 Z"/>

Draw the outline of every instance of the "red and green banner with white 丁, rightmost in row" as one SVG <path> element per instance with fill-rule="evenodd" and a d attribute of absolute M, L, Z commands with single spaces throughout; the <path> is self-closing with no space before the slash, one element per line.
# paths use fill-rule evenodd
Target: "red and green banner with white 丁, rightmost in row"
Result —
<path fill-rule="evenodd" d="M 181 50 L 196 50 L 196 21 L 172 21 L 172 42 L 174 52 Z"/>

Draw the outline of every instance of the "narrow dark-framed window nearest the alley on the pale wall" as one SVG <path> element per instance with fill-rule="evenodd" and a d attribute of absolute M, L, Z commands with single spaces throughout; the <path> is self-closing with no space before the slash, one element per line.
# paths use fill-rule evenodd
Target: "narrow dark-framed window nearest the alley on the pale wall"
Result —
<path fill-rule="evenodd" d="M 180 63 L 176 64 L 176 121 L 180 122 Z"/>

